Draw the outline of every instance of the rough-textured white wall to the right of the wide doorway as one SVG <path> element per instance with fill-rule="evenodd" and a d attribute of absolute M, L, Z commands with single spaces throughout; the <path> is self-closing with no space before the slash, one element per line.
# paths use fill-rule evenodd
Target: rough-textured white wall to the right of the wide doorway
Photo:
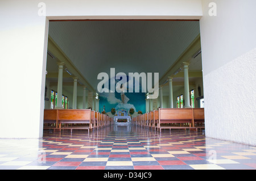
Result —
<path fill-rule="evenodd" d="M 209 3 L 217 16 L 209 16 Z M 256 24 L 254 0 L 205 0 L 200 20 L 205 133 L 256 145 Z"/>

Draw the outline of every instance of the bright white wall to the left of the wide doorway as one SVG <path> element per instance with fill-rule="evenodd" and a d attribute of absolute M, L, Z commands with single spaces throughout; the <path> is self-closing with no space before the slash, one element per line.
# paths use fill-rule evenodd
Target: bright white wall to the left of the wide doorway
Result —
<path fill-rule="evenodd" d="M 1 138 L 42 135 L 47 23 L 37 5 L 0 2 Z"/>

